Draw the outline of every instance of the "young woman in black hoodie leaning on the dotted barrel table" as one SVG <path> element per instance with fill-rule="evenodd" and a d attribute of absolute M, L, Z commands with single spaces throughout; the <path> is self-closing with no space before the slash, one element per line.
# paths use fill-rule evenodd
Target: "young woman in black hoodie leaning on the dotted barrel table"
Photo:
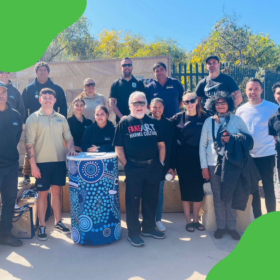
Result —
<path fill-rule="evenodd" d="M 95 122 L 85 129 L 81 145 L 83 152 L 114 152 L 112 146 L 115 136 L 115 126 L 108 120 L 108 109 L 98 105 L 94 109 Z"/>

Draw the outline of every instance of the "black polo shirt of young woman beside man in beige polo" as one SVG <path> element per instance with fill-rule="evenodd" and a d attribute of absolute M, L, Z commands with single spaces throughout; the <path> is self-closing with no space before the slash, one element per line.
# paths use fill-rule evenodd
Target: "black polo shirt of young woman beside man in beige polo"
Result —
<path fill-rule="evenodd" d="M 69 129 L 70 132 L 73 136 L 73 140 L 74 140 L 74 145 L 81 147 L 81 140 L 84 134 L 85 129 L 92 125 L 92 120 L 86 118 L 83 115 L 83 122 L 80 122 L 79 120 L 77 120 L 77 118 L 75 117 L 75 114 L 67 119 L 68 125 L 69 125 Z"/>

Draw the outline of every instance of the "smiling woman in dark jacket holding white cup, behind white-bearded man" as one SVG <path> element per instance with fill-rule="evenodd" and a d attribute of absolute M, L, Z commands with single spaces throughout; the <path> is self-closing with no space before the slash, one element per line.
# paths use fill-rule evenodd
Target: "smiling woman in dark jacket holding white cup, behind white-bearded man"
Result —
<path fill-rule="evenodd" d="M 149 116 L 156 118 L 159 123 L 162 131 L 165 131 L 163 134 L 164 143 L 165 143 L 165 159 L 164 167 L 162 169 L 162 176 L 160 178 L 159 193 L 158 193 L 158 206 L 156 213 L 156 225 L 159 231 L 165 231 L 166 228 L 161 221 L 162 209 L 164 204 L 163 188 L 165 183 L 165 175 L 170 173 L 172 179 L 175 178 L 175 158 L 176 158 L 176 130 L 171 120 L 165 118 L 162 114 L 164 110 L 164 101 L 161 98 L 154 98 L 151 100 L 150 104 L 151 113 Z"/>

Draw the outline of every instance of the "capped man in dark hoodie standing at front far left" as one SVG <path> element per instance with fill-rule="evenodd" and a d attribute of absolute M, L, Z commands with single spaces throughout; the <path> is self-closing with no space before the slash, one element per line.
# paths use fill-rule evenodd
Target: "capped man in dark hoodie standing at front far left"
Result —
<path fill-rule="evenodd" d="M 11 234 L 15 200 L 17 199 L 18 150 L 22 118 L 7 101 L 6 85 L 0 81 L 0 192 L 2 199 L 0 244 L 18 247 L 22 241 Z"/>

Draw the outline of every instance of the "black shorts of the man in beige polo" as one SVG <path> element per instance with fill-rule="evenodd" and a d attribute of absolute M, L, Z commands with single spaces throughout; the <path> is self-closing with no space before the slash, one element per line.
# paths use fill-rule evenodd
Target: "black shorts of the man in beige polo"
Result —
<path fill-rule="evenodd" d="M 39 192 L 50 189 L 51 185 L 64 186 L 66 183 L 66 162 L 41 162 L 37 163 L 41 178 L 36 178 L 35 186 Z"/>

